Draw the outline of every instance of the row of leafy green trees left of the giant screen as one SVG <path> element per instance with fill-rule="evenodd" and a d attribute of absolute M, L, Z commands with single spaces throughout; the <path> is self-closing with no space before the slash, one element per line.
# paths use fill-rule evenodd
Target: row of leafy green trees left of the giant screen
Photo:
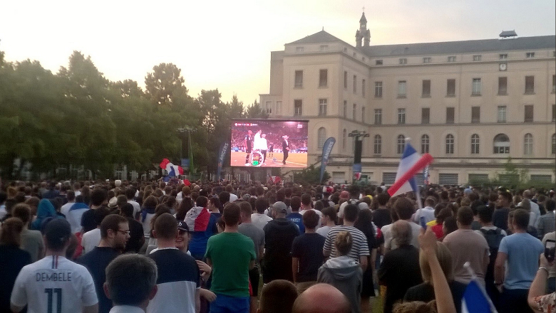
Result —
<path fill-rule="evenodd" d="M 34 60 L 6 62 L 0 51 L 0 174 L 18 178 L 21 165 L 48 175 L 73 169 L 111 177 L 124 164 L 145 172 L 186 155 L 180 128 L 192 129 L 196 167 L 215 171 L 230 120 L 267 115 L 256 101 L 247 109 L 237 96 L 222 102 L 218 90 L 193 98 L 184 82 L 172 63 L 155 65 L 143 91 L 133 80 L 108 80 L 78 51 L 56 74 Z"/>

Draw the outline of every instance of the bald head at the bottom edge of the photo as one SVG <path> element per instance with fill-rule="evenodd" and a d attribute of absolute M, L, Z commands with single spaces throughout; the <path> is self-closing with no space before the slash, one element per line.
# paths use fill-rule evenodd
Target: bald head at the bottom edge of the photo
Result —
<path fill-rule="evenodd" d="M 351 313 L 351 304 L 336 287 L 316 284 L 294 302 L 293 313 Z"/>

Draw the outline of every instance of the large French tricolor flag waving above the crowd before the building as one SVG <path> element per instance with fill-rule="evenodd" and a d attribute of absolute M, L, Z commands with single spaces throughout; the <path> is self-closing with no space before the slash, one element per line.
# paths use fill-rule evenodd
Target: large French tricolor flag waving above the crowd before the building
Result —
<path fill-rule="evenodd" d="M 409 142 L 406 141 L 406 148 L 403 150 L 398 172 L 396 173 L 396 181 L 388 189 L 390 196 L 398 196 L 398 194 L 410 191 L 418 191 L 415 175 L 431 164 L 433 157 L 431 154 L 419 155 Z"/>

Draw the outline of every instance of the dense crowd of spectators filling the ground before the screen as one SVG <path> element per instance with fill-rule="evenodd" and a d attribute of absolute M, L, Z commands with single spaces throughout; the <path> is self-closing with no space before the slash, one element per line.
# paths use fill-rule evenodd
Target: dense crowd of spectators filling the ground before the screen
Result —
<path fill-rule="evenodd" d="M 180 183 L 1 186 L 0 312 L 555 312 L 554 191 Z"/>

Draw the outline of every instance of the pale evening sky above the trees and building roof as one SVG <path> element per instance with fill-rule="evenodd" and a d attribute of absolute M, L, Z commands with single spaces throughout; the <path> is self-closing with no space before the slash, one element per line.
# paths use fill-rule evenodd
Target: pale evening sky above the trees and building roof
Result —
<path fill-rule="evenodd" d="M 324 30 L 351 43 L 365 7 L 371 46 L 555 34 L 554 0 L 8 0 L 0 51 L 53 73 L 81 51 L 110 80 L 137 80 L 158 63 L 182 69 L 190 95 L 218 88 L 245 105 L 269 91 L 270 51 Z"/>

